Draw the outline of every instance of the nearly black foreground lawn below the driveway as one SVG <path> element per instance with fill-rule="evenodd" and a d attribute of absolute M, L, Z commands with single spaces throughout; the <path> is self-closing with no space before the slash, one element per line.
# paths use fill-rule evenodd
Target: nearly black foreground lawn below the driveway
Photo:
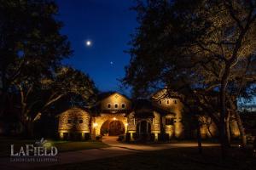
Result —
<path fill-rule="evenodd" d="M 111 169 L 111 170 L 253 170 L 256 159 L 248 150 L 232 148 L 229 157 L 222 160 L 218 147 L 203 149 L 198 154 L 197 148 L 173 148 L 170 150 L 147 151 L 128 156 L 119 156 L 96 161 L 84 161 L 74 164 L 58 165 L 47 169 Z"/>

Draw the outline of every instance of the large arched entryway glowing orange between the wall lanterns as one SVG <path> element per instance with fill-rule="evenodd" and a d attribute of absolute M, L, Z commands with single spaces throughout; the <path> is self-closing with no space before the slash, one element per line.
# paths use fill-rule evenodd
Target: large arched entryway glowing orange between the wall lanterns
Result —
<path fill-rule="evenodd" d="M 125 133 L 125 126 L 120 121 L 106 121 L 102 124 L 101 134 L 109 136 L 118 136 Z"/>

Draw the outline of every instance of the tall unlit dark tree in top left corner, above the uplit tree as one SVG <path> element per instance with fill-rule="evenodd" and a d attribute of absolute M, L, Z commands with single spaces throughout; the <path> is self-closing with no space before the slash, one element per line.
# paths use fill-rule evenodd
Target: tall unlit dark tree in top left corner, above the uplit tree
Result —
<path fill-rule="evenodd" d="M 0 1 L 1 115 L 15 82 L 49 76 L 72 53 L 57 13 L 51 0 Z"/>

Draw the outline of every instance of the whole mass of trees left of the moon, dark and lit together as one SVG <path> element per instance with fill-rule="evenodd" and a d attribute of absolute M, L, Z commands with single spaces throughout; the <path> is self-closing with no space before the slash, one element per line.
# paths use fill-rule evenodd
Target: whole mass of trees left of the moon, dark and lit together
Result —
<path fill-rule="evenodd" d="M 41 117 L 95 99 L 90 77 L 61 65 L 73 51 L 56 14 L 58 7 L 51 0 L 0 1 L 2 133 L 32 137 Z"/>

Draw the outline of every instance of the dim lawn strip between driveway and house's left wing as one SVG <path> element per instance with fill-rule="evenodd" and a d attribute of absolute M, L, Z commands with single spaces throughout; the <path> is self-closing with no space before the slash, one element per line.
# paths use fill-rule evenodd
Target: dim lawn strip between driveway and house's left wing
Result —
<path fill-rule="evenodd" d="M 0 137 L 0 157 L 10 155 L 10 144 L 14 144 L 15 150 L 19 151 L 21 146 L 25 144 L 35 144 L 35 139 L 18 139 L 9 137 Z M 61 140 L 48 140 L 51 145 L 55 146 L 59 152 L 74 151 L 74 150 L 89 150 L 95 148 L 108 147 L 98 141 L 61 141 Z"/>

